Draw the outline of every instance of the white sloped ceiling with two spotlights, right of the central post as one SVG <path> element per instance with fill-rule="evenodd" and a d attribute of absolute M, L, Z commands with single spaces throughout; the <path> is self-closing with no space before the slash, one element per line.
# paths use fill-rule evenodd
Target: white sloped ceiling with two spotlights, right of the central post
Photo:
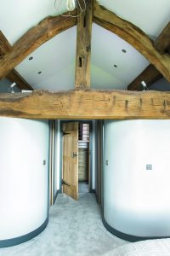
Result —
<path fill-rule="evenodd" d="M 123 49 L 126 53 L 122 52 Z M 98 25 L 93 25 L 92 63 L 115 79 L 122 81 L 122 84 L 129 84 L 150 64 L 130 44 Z M 113 86 L 120 89 L 118 84 Z"/>

